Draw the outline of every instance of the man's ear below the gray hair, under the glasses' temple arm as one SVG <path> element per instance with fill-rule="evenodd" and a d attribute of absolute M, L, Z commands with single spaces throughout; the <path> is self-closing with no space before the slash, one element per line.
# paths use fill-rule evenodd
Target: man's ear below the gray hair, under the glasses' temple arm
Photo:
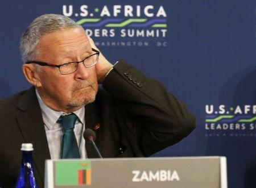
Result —
<path fill-rule="evenodd" d="M 36 70 L 35 65 L 24 64 L 22 65 L 22 70 L 28 82 L 30 82 L 32 85 L 36 87 L 42 86 L 42 83 L 40 82 L 40 79 L 39 79 L 39 73 Z"/>

